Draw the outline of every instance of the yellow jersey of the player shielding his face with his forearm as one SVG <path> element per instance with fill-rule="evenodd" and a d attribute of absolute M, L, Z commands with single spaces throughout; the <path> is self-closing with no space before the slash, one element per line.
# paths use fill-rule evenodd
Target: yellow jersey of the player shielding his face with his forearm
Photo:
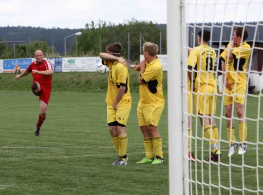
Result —
<path fill-rule="evenodd" d="M 125 94 L 118 104 L 131 104 L 130 76 L 128 68 L 118 61 L 102 60 L 102 64 L 109 67 L 106 102 L 108 104 L 113 104 L 115 98 L 117 97 L 119 87 L 125 86 Z"/>

